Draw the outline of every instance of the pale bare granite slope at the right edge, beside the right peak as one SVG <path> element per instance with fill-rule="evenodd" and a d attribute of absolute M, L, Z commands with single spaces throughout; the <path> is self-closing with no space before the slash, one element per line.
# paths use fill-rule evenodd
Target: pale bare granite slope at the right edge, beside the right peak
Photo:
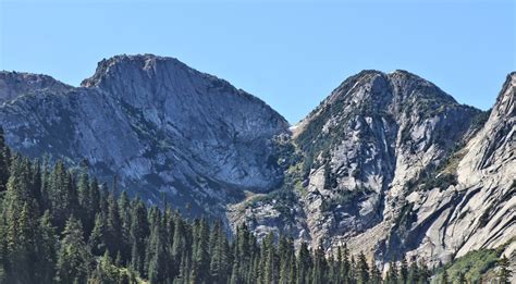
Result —
<path fill-rule="evenodd" d="M 460 152 L 456 186 L 414 198 L 413 231 L 432 221 L 415 255 L 450 260 L 516 242 L 516 73 L 507 76 L 488 121 Z M 508 246 L 505 254 L 514 250 Z"/>

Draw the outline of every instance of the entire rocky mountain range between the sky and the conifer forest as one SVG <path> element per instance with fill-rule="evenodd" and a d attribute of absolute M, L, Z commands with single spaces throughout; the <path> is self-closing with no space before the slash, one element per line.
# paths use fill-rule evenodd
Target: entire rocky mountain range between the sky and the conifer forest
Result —
<path fill-rule="evenodd" d="M 258 237 L 438 263 L 516 239 L 515 92 L 512 73 L 482 112 L 406 71 L 363 71 L 288 129 L 225 81 L 120 55 L 82 87 L 0 73 L 0 125 L 25 155 L 86 159 L 149 202 L 164 194 Z"/>

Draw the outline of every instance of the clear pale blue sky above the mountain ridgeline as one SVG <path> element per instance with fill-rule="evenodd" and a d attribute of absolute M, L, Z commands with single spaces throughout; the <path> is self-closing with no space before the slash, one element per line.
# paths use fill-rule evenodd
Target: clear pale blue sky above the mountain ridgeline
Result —
<path fill-rule="evenodd" d="M 291 123 L 364 69 L 408 70 L 480 109 L 516 70 L 512 0 L 0 1 L 0 70 L 77 86 L 102 58 L 170 55 Z"/>

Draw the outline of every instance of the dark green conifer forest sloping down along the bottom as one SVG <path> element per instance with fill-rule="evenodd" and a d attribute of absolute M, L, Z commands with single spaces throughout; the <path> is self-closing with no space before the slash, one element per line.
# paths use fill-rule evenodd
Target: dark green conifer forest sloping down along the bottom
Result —
<path fill-rule="evenodd" d="M 273 234 L 259 244 L 245 225 L 230 236 L 221 222 L 108 187 L 86 165 L 11 152 L 1 133 L 0 283 L 429 283 L 425 263 L 391 263 L 382 279 L 346 246 L 296 251 Z"/>

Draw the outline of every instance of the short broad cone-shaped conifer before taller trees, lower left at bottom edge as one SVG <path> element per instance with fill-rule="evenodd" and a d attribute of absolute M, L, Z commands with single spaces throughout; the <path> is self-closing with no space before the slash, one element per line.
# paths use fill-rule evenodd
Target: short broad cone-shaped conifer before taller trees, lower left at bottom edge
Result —
<path fill-rule="evenodd" d="M 93 262 L 83 237 L 81 221 L 71 217 L 63 232 L 64 238 L 58 252 L 57 283 L 86 283 Z"/>

